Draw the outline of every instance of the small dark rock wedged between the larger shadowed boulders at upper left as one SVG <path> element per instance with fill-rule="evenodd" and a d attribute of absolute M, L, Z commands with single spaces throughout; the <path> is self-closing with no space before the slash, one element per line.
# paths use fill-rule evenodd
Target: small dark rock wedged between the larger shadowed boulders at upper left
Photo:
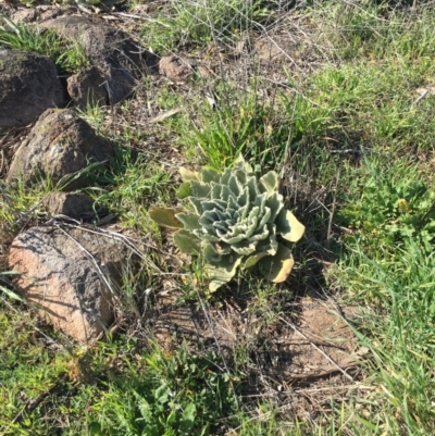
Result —
<path fill-rule="evenodd" d="M 107 103 L 104 82 L 99 70 L 90 66 L 66 79 L 67 91 L 71 99 L 80 109 L 86 109 L 88 104 L 103 105 Z"/>

